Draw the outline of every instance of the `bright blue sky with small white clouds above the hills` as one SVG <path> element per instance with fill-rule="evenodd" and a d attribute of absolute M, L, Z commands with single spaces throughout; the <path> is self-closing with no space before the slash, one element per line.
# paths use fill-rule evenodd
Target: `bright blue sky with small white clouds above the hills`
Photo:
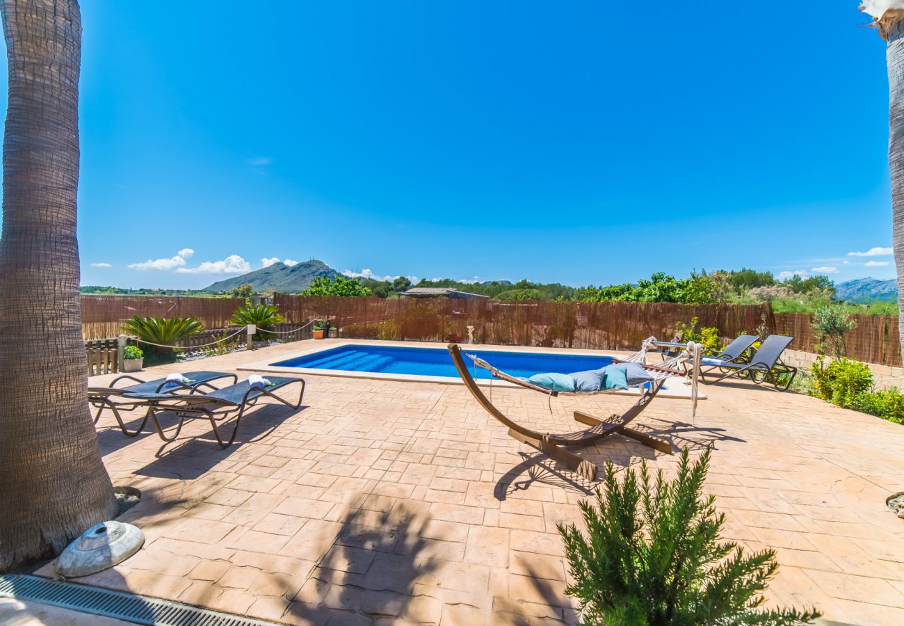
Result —
<path fill-rule="evenodd" d="M 82 283 L 890 278 L 884 43 L 824 4 L 85 2 Z"/>

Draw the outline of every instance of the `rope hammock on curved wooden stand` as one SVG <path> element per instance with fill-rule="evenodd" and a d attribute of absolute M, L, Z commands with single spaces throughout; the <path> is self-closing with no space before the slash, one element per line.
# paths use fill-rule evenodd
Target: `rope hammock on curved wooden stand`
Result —
<path fill-rule="evenodd" d="M 621 413 L 620 415 L 612 414 L 605 419 L 600 419 L 598 417 L 590 415 L 589 413 L 575 411 L 575 421 L 586 424 L 589 426 L 589 428 L 583 431 L 565 432 L 560 434 L 533 431 L 532 429 L 522 426 L 518 422 L 515 422 L 511 418 L 507 417 L 502 411 L 496 408 L 496 406 L 490 400 L 487 399 L 483 391 L 477 385 L 474 377 L 468 371 L 465 360 L 463 358 L 464 353 L 462 353 L 461 348 L 456 344 L 449 344 L 448 350 L 449 355 L 452 356 L 452 362 L 456 365 L 458 375 L 461 376 L 462 382 L 465 383 L 467 390 L 472 395 L 474 395 L 476 401 L 485 408 L 487 413 L 490 413 L 496 420 L 502 422 L 505 426 L 508 427 L 509 435 L 513 437 L 513 439 L 522 441 L 523 443 L 526 443 L 533 448 L 536 448 L 537 450 L 551 456 L 553 459 L 560 460 L 570 470 L 578 472 L 580 476 L 586 479 L 593 480 L 597 478 L 597 466 L 587 460 L 581 459 L 579 454 L 565 450 L 564 447 L 587 446 L 591 443 L 608 437 L 611 434 L 618 433 L 626 435 L 627 437 L 635 439 L 636 441 L 640 441 L 644 445 L 654 448 L 654 450 L 663 451 L 669 454 L 672 453 L 672 444 L 668 441 L 657 439 L 644 432 L 638 432 L 627 427 L 627 424 L 629 422 L 632 422 L 637 417 L 637 415 L 644 411 L 647 404 L 649 404 L 654 399 L 655 395 L 659 393 L 659 390 L 662 389 L 665 380 L 670 376 L 688 375 L 690 373 L 690 375 L 692 376 L 692 411 L 694 413 L 696 412 L 698 370 L 698 367 L 696 365 L 698 365 L 700 362 L 701 347 L 696 344 L 688 344 L 688 346 L 686 347 L 683 346 L 684 349 L 680 355 L 675 356 L 668 361 L 665 361 L 662 365 L 646 364 L 645 356 L 647 350 L 649 350 L 651 347 L 659 346 L 662 343 L 663 342 L 656 341 L 654 337 L 650 337 L 649 339 L 645 340 L 644 345 L 641 346 L 641 349 L 638 352 L 622 360 L 623 362 L 640 363 L 646 370 L 653 372 L 654 376 L 654 381 L 652 383 L 645 383 L 642 386 L 641 397 L 633 406 L 631 406 L 625 413 Z M 505 374 L 503 371 L 499 370 L 493 365 L 488 364 L 485 360 L 477 356 L 467 356 L 474 361 L 474 364 L 476 366 L 488 370 L 490 372 L 490 375 L 492 375 L 494 378 L 498 378 L 500 380 L 504 380 L 506 382 L 516 384 L 526 389 L 531 389 L 532 391 L 540 392 L 551 397 L 566 395 L 560 392 L 551 391 L 536 384 L 528 383 L 521 378 Z M 675 368 L 677 365 L 683 365 L 688 362 L 693 362 L 693 365 L 690 368 L 690 372 L 688 372 L 687 370 L 682 371 Z M 621 390 L 606 390 L 602 393 L 611 394 L 616 391 Z M 576 393 L 568 395 L 588 394 Z"/>

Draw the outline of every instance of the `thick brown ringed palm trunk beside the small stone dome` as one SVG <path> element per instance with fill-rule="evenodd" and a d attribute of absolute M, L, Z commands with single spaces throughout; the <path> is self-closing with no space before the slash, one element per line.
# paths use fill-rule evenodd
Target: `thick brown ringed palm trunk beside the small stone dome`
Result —
<path fill-rule="evenodd" d="M 116 515 L 81 338 L 81 18 L 76 0 L 0 0 L 9 65 L 0 235 L 0 572 Z"/>

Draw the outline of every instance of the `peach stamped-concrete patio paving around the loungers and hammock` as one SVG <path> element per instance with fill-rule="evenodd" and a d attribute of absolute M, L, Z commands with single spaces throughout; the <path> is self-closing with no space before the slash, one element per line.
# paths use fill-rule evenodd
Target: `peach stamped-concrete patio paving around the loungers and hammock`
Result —
<path fill-rule="evenodd" d="M 302 349 L 143 376 L 231 371 Z M 128 439 L 103 418 L 114 484 L 143 493 L 122 519 L 142 528 L 146 545 L 80 582 L 288 623 L 577 620 L 556 524 L 581 526 L 591 485 L 510 439 L 462 385 L 306 379 L 301 410 L 254 409 L 225 451 L 202 422 L 163 446 L 155 433 Z M 726 538 L 777 549 L 769 602 L 816 605 L 834 621 L 904 623 L 904 520 L 885 507 L 904 490 L 904 426 L 749 384 L 706 391 L 695 422 L 689 402 L 668 399 L 637 422 L 677 447 L 715 446 L 708 488 L 726 513 Z M 550 407 L 529 391 L 492 394 L 549 431 L 574 430 L 575 408 L 607 414 L 632 402 L 591 396 Z M 676 460 L 622 437 L 588 458 L 666 470 Z"/>

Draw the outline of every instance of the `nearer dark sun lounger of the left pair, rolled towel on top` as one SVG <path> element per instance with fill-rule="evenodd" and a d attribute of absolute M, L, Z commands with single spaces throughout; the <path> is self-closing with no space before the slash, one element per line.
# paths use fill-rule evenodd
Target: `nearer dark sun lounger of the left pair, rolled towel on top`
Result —
<path fill-rule="evenodd" d="M 302 399 L 305 397 L 305 381 L 302 378 L 285 378 L 281 376 L 268 376 L 268 381 L 272 383 L 267 387 L 252 387 L 248 381 L 231 384 L 228 387 L 217 389 L 209 394 L 203 395 L 173 395 L 173 394 L 126 394 L 128 400 L 134 400 L 138 403 L 146 404 L 147 412 L 150 414 L 151 420 L 163 441 L 175 441 L 182 431 L 185 420 L 207 419 L 211 422 L 213 436 L 217 438 L 217 443 L 221 448 L 229 448 L 235 441 L 236 433 L 239 432 L 239 422 L 245 410 L 254 406 L 263 398 L 273 398 L 279 403 L 285 404 L 292 409 L 301 407 Z M 298 402 L 291 403 L 277 394 L 278 389 L 282 389 L 289 384 L 301 384 L 301 390 L 298 394 Z M 231 413 L 238 411 L 235 416 L 235 425 L 228 441 L 224 441 L 217 427 L 218 422 L 226 422 Z M 175 427 L 172 435 L 167 436 L 163 426 L 157 419 L 157 413 L 173 412 L 179 418 L 179 423 Z"/>

